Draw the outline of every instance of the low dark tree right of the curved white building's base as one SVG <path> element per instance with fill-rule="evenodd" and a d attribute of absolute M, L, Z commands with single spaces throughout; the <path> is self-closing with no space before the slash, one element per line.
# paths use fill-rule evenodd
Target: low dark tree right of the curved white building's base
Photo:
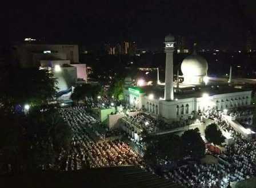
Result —
<path fill-rule="evenodd" d="M 85 100 L 86 97 L 93 97 L 96 99 L 97 96 L 102 94 L 102 87 L 100 85 L 82 84 L 75 87 L 74 92 L 71 95 L 71 99 Z"/>

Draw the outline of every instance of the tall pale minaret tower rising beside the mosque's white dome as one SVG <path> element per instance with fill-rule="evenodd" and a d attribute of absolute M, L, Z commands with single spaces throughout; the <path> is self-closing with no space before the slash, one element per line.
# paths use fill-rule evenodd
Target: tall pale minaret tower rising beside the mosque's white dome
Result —
<path fill-rule="evenodd" d="M 173 52 L 174 52 L 174 36 L 167 35 L 165 37 L 165 100 L 173 100 Z"/>

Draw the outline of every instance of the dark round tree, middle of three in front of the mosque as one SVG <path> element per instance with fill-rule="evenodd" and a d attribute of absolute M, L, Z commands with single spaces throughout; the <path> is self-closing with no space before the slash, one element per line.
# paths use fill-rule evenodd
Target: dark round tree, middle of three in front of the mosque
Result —
<path fill-rule="evenodd" d="M 183 156 L 192 156 L 197 159 L 205 154 L 205 142 L 201 138 L 199 129 L 186 130 L 181 136 Z"/>

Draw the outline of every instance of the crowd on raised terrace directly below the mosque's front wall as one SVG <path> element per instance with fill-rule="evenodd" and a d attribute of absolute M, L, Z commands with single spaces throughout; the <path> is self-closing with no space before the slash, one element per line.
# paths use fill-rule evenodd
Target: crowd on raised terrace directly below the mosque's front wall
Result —
<path fill-rule="evenodd" d="M 158 130 L 169 130 L 190 125 L 192 122 L 192 120 L 180 120 L 173 121 L 171 124 L 167 124 L 166 122 L 157 120 L 154 117 L 147 115 L 146 113 L 138 113 L 135 116 L 127 115 L 125 119 L 140 129 L 146 129 L 149 133 L 157 132 Z"/>

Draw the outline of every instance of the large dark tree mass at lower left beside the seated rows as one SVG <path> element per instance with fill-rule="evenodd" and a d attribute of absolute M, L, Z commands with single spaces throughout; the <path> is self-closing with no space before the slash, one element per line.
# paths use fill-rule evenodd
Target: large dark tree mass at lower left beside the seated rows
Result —
<path fill-rule="evenodd" d="M 0 119 L 0 161 L 13 171 L 54 164 L 70 149 L 73 132 L 53 107 L 33 107 L 27 115 L 0 113 Z"/>

